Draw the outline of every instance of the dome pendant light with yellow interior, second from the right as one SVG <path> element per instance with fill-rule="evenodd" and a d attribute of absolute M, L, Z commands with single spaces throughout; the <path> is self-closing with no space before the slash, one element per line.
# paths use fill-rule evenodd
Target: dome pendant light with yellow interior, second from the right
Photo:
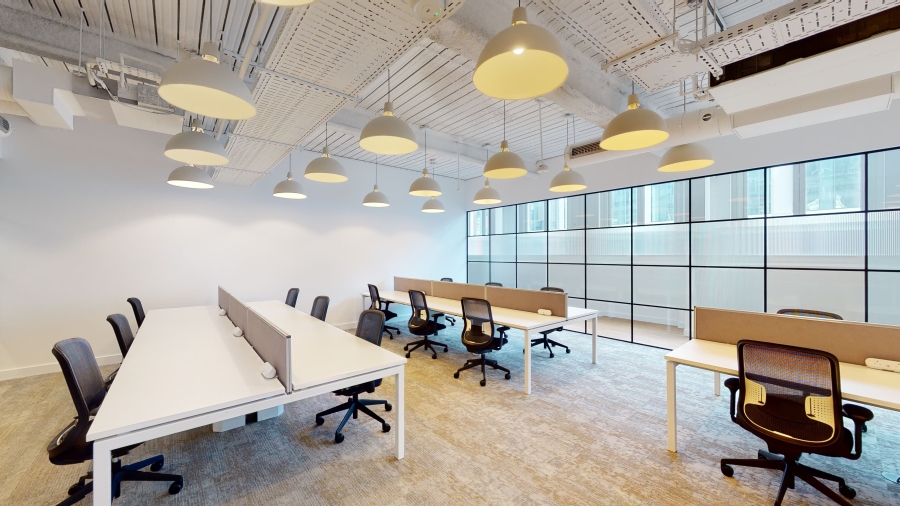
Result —
<path fill-rule="evenodd" d="M 626 151 L 648 148 L 669 138 L 662 116 L 648 109 L 641 109 L 638 96 L 628 96 L 628 109 L 613 118 L 603 130 L 600 147 L 607 151 Z"/>

